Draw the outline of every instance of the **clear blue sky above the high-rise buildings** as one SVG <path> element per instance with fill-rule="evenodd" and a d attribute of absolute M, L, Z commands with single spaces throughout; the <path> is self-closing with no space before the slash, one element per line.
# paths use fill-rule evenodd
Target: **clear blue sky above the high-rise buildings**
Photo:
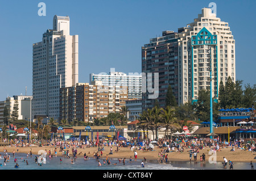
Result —
<path fill-rule="evenodd" d="M 46 16 L 39 16 L 39 2 Z M 256 1 L 1 1 L 0 100 L 32 95 L 32 44 L 52 28 L 54 15 L 71 19 L 71 35 L 79 35 L 79 82 L 90 73 L 141 73 L 141 47 L 162 31 L 193 22 L 210 2 L 217 17 L 228 22 L 236 40 L 236 78 L 255 84 Z"/>

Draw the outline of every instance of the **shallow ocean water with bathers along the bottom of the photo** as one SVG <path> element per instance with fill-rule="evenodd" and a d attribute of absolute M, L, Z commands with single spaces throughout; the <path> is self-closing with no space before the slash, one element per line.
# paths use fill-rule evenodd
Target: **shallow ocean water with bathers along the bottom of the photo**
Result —
<path fill-rule="evenodd" d="M 84 160 L 84 158 L 73 158 L 73 164 L 71 163 L 71 158 L 64 157 L 53 157 L 46 159 L 46 163 L 39 166 L 38 163 L 35 162 L 35 156 L 39 155 L 30 155 L 27 157 L 27 154 L 24 153 L 16 153 L 15 157 L 11 154 L 10 161 L 6 162 L 6 165 L 3 164 L 3 154 L 2 159 L 0 159 L 0 170 L 229 170 L 224 169 L 221 162 L 217 163 L 209 163 L 205 164 L 199 162 L 170 162 L 159 164 L 157 161 L 146 161 L 144 163 L 145 167 L 141 167 L 141 161 L 137 159 L 137 161 L 129 162 L 129 159 L 126 159 L 126 164 L 119 163 L 118 159 L 110 159 L 110 165 L 104 165 L 103 159 L 99 159 L 101 162 L 101 167 L 98 167 L 98 161 L 95 158 L 89 158 Z M 14 159 L 18 160 L 18 168 L 15 168 Z M 60 159 L 62 163 L 60 163 Z M 28 165 L 26 163 L 28 161 Z M 117 165 L 113 165 L 113 163 L 117 163 Z M 256 166 L 256 163 L 254 163 Z M 234 170 L 251 170 L 250 163 L 234 163 Z"/>

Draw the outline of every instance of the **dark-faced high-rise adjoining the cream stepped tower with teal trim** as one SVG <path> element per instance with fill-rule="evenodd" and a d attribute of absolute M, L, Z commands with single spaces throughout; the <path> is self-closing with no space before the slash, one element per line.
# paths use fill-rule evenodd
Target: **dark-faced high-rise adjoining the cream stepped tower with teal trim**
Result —
<path fill-rule="evenodd" d="M 169 85 L 178 99 L 178 40 L 178 35 L 174 31 L 164 31 L 161 37 L 150 39 L 150 43 L 142 47 L 142 72 L 159 73 L 158 102 L 160 107 L 166 105 Z M 154 86 L 154 81 L 152 85 Z M 155 99 L 148 99 L 148 92 L 143 92 L 143 110 L 154 107 L 154 103 Z"/>

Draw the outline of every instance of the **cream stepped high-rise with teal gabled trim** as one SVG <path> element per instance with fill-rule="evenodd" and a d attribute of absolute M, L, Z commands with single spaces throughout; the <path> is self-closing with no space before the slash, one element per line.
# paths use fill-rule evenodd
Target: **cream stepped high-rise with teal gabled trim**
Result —
<path fill-rule="evenodd" d="M 199 90 L 209 89 L 209 58 L 212 95 L 217 99 L 220 81 L 225 85 L 229 76 L 236 81 L 235 40 L 229 24 L 203 8 L 198 18 L 179 31 L 179 103 L 196 101 Z"/>

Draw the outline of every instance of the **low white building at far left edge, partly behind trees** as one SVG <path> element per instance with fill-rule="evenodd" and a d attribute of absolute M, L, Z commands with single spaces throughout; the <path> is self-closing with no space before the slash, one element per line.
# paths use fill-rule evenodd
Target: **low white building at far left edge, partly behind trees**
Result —
<path fill-rule="evenodd" d="M 18 102 L 18 120 L 30 120 L 30 110 L 32 104 L 32 96 L 23 96 L 23 95 L 14 95 L 13 97 L 7 97 L 6 100 L 0 102 L 0 124 L 3 123 L 3 110 L 5 107 L 9 113 L 9 117 L 11 117 L 11 113 L 13 112 L 13 107 L 15 104 L 15 100 Z"/>

